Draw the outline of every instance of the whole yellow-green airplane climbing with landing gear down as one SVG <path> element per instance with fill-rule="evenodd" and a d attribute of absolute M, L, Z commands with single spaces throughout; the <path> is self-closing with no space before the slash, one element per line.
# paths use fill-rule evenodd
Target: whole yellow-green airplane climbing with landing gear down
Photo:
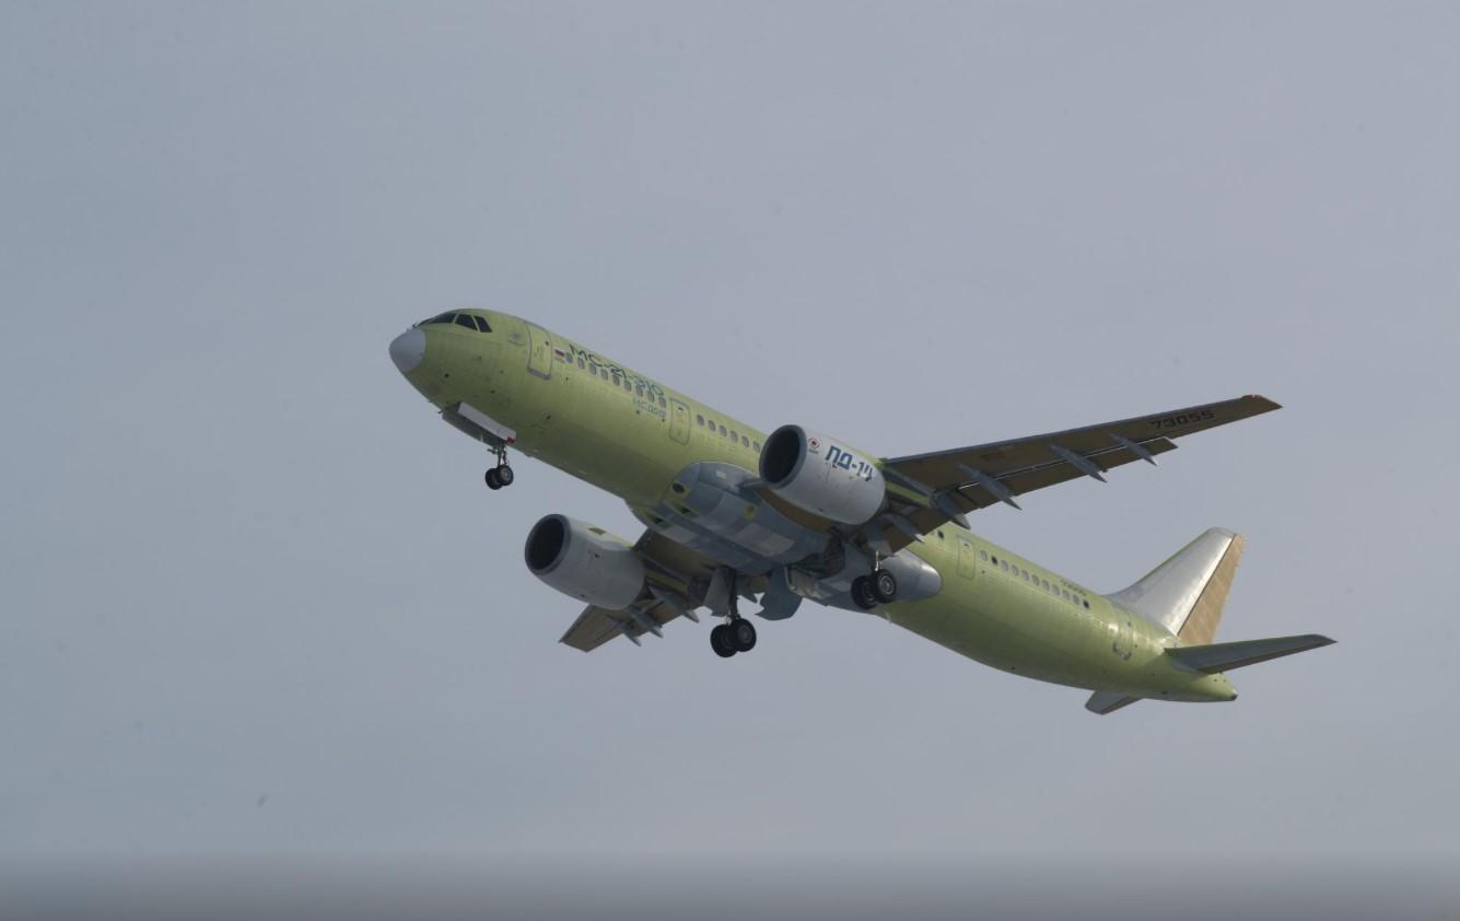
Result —
<path fill-rule="evenodd" d="M 802 601 L 875 613 L 1018 676 L 1091 690 L 1086 709 L 1137 701 L 1222 702 L 1226 671 L 1333 642 L 1317 633 L 1213 642 L 1245 540 L 1210 528 L 1113 594 L 977 536 L 968 515 L 1025 493 L 1105 482 L 1175 438 L 1275 409 L 1247 396 L 930 454 L 877 457 L 783 425 L 766 433 L 508 314 L 458 309 L 390 343 L 390 358 L 448 425 L 486 445 L 486 486 L 515 480 L 508 448 L 623 499 L 634 542 L 550 514 L 529 531 L 527 569 L 585 603 L 561 642 L 641 645 L 701 609 L 710 645 L 749 652 L 764 620 Z"/>

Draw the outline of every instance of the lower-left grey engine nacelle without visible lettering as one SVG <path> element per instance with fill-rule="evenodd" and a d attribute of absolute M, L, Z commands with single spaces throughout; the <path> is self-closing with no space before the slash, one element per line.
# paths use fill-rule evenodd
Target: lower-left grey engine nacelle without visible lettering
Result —
<path fill-rule="evenodd" d="M 623 610 L 644 590 L 644 560 L 632 546 L 566 515 L 534 524 L 523 556 L 558 591 L 609 610 Z"/>

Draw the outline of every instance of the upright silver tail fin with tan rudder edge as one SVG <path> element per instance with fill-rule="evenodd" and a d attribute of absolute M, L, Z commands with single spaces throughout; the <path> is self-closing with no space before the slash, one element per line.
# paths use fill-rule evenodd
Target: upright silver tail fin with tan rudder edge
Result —
<path fill-rule="evenodd" d="M 1159 623 L 1187 645 L 1207 645 L 1216 636 L 1245 546 L 1242 536 L 1210 528 L 1110 600 Z"/>

